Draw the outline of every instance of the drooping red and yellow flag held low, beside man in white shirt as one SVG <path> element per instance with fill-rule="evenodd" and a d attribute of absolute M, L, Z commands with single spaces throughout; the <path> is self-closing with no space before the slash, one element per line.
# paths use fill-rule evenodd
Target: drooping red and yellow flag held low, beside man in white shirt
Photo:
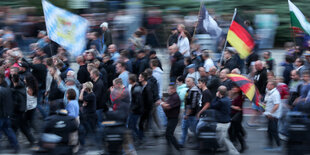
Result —
<path fill-rule="evenodd" d="M 227 77 L 239 86 L 250 101 L 259 106 L 259 92 L 251 80 L 239 74 L 227 74 Z"/>

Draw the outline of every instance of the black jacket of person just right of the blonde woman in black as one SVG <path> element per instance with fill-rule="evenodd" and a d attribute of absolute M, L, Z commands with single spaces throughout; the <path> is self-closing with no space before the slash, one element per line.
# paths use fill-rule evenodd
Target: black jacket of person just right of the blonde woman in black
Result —
<path fill-rule="evenodd" d="M 103 109 L 104 111 L 108 110 L 108 107 L 106 105 L 106 89 L 103 81 L 101 78 L 99 78 L 96 82 L 92 81 L 94 88 L 93 92 L 95 93 L 96 96 L 96 108 L 98 109 Z"/>

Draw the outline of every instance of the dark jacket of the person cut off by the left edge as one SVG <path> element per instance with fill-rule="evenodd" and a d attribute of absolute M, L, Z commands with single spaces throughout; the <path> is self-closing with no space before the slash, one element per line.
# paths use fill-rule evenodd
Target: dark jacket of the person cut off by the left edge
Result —
<path fill-rule="evenodd" d="M 7 118 L 13 113 L 12 91 L 9 88 L 0 86 L 0 118 Z"/>

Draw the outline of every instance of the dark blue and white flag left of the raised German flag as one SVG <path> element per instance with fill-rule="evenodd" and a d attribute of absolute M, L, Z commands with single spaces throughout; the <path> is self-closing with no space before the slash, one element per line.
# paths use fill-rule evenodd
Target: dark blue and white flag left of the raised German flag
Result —
<path fill-rule="evenodd" d="M 204 5 L 200 10 L 197 30 L 200 33 L 210 34 L 211 37 L 218 37 L 222 33 L 222 29 L 217 25 L 216 21 L 209 15 Z"/>

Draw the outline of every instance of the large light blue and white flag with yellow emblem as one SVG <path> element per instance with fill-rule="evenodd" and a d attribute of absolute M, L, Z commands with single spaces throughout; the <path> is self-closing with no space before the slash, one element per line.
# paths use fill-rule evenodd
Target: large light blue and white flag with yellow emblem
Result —
<path fill-rule="evenodd" d="M 71 54 L 80 55 L 86 45 L 88 21 L 42 0 L 48 37 Z"/>

